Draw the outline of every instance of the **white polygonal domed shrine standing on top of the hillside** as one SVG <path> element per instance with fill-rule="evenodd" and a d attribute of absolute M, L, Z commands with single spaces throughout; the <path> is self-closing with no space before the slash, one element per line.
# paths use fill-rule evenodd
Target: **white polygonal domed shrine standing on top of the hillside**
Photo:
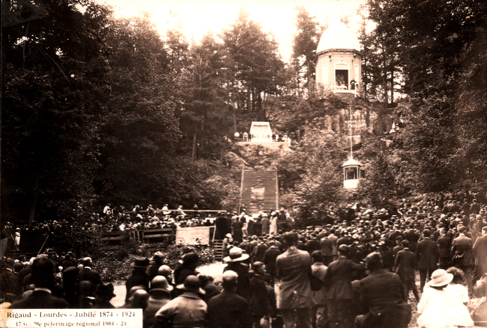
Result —
<path fill-rule="evenodd" d="M 316 82 L 325 91 L 355 97 L 362 82 L 362 54 L 356 33 L 342 22 L 331 25 L 319 39 L 316 56 Z"/>

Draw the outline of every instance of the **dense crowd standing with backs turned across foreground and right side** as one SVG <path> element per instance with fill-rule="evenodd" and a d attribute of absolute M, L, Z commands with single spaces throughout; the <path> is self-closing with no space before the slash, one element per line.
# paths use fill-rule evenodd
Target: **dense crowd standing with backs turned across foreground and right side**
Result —
<path fill-rule="evenodd" d="M 289 232 L 279 226 L 285 212 L 221 213 L 221 282 L 198 272 L 197 253 L 170 268 L 161 250 L 134 259 L 122 308 L 143 309 L 144 327 L 401 328 L 412 318 L 411 291 L 420 327 L 480 326 L 487 303 L 471 313 L 466 304 L 487 292 L 487 208 L 456 197 L 394 211 L 350 204 L 345 219 Z M 89 257 L 52 251 L 4 259 L 2 306 L 112 308 L 113 286 L 92 268 Z"/>

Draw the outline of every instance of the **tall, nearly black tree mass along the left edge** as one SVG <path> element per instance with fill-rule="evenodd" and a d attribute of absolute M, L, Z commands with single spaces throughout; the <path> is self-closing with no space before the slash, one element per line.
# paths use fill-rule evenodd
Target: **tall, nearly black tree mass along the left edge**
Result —
<path fill-rule="evenodd" d="M 46 18 L 2 28 L 1 206 L 19 221 L 93 201 L 93 98 L 104 92 L 97 58 L 110 11 L 88 0 L 44 3 Z"/>

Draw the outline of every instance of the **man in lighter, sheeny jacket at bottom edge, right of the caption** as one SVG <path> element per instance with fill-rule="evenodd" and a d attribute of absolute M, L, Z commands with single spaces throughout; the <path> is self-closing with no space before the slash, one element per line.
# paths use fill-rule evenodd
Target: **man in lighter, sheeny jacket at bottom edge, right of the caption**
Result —
<path fill-rule="evenodd" d="M 206 325 L 206 303 L 198 297 L 205 294 L 200 288 L 197 276 L 186 277 L 183 286 L 184 293 L 169 301 L 155 314 L 155 328 L 204 328 Z"/>

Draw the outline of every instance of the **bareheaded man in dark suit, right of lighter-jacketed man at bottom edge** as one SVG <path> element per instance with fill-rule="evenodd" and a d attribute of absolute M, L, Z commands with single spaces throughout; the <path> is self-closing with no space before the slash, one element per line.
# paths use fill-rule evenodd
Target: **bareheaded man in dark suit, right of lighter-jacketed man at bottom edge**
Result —
<path fill-rule="evenodd" d="M 208 301 L 209 328 L 251 328 L 248 302 L 235 293 L 238 275 L 228 270 L 223 273 L 223 290 Z"/>

